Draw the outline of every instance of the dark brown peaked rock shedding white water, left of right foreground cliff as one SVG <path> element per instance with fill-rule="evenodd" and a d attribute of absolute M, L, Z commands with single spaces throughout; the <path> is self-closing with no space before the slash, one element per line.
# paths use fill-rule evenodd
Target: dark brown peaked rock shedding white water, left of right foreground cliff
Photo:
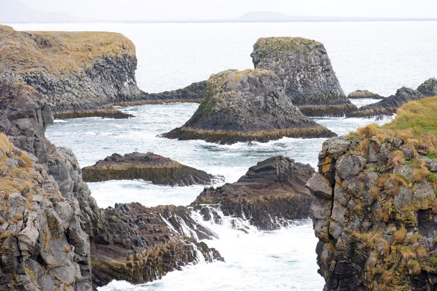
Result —
<path fill-rule="evenodd" d="M 214 211 L 218 209 L 225 215 L 247 219 L 260 230 L 279 229 L 290 220 L 310 216 L 314 197 L 305 183 L 313 173 L 308 164 L 274 156 L 250 167 L 238 182 L 205 188 L 191 206 L 200 210 L 204 219 L 220 219 Z"/>

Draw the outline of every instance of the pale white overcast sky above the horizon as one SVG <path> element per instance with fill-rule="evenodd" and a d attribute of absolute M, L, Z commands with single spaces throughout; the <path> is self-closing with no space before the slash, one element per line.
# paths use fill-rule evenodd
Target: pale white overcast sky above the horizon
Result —
<path fill-rule="evenodd" d="M 3 1 L 3 0 L 2 0 Z M 112 20 L 238 18 L 249 11 L 292 16 L 437 17 L 437 0 L 20 0 L 46 12 Z"/>

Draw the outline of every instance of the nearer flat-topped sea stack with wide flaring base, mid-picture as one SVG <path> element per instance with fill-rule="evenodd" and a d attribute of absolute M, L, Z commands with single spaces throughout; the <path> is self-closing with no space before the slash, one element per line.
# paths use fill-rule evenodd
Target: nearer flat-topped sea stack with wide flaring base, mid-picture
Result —
<path fill-rule="evenodd" d="M 211 75 L 194 115 L 163 137 L 212 143 L 268 142 L 283 137 L 320 138 L 336 134 L 304 116 L 285 95 L 272 71 L 226 70 Z"/>

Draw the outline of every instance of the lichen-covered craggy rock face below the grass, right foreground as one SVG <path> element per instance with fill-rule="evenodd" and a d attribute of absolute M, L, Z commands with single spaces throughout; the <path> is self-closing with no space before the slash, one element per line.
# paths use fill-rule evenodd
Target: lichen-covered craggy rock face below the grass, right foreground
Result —
<path fill-rule="evenodd" d="M 324 143 L 307 183 L 324 290 L 437 288 L 435 163 L 399 138 Z"/>

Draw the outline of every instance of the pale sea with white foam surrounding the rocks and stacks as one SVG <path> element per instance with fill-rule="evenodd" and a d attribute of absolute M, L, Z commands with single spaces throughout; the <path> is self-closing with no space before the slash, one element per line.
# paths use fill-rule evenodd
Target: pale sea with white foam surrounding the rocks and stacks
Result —
<path fill-rule="evenodd" d="M 250 53 L 259 37 L 291 36 L 322 42 L 347 95 L 357 89 L 382 96 L 406 86 L 416 89 L 437 76 L 437 22 L 282 22 L 282 23 L 62 23 L 9 24 L 15 30 L 111 31 L 130 38 L 138 58 L 140 89 L 149 93 L 175 90 L 226 70 L 253 68 Z M 375 102 L 353 99 L 357 106 Z M 153 152 L 183 164 L 238 180 L 247 169 L 274 155 L 291 157 L 317 169 L 325 139 L 283 138 L 268 143 L 217 145 L 204 141 L 177 141 L 160 134 L 183 125 L 198 104 L 170 103 L 120 107 L 135 117 L 125 120 L 79 118 L 55 120 L 46 136 L 54 145 L 73 149 L 81 167 L 117 152 Z M 383 120 L 366 118 L 313 118 L 339 135 Z M 215 185 L 217 186 L 217 185 Z M 137 201 L 146 206 L 189 205 L 204 186 L 169 187 L 147 181 L 89 183 L 99 207 Z M 247 233 L 226 218 L 221 225 L 194 219 L 213 229 L 219 239 L 205 241 L 225 262 L 201 258 L 162 279 L 132 285 L 112 281 L 99 291 L 320 291 L 324 280 L 317 273 L 310 219 L 295 221 L 276 231 L 258 231 L 247 221 Z"/>

